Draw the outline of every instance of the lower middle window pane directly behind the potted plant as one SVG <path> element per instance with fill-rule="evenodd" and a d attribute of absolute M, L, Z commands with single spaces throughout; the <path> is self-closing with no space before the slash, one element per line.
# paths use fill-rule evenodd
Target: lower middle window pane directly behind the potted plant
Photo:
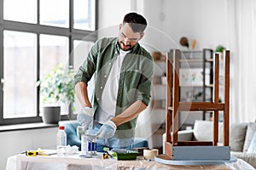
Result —
<path fill-rule="evenodd" d="M 40 80 L 59 64 L 68 65 L 68 38 L 61 36 L 40 35 Z M 67 67 L 68 68 L 68 67 Z M 40 94 L 40 105 L 55 104 L 52 99 L 43 103 L 44 95 Z M 65 106 L 65 105 L 64 105 Z M 61 114 L 67 114 L 67 108 L 61 108 Z"/>

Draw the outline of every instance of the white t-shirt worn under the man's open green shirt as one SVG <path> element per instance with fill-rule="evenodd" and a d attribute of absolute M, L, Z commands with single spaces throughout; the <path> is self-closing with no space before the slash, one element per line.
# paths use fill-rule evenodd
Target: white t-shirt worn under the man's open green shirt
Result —
<path fill-rule="evenodd" d="M 130 51 L 123 51 L 120 49 L 119 56 L 113 62 L 105 88 L 102 91 L 102 98 L 99 100 L 96 122 L 104 123 L 115 116 L 121 66 L 125 59 L 125 55 L 128 53 L 130 53 Z"/>

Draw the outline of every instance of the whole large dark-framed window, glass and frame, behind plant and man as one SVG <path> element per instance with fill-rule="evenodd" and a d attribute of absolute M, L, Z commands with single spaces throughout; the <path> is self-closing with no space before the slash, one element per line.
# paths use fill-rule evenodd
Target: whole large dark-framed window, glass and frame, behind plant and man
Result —
<path fill-rule="evenodd" d="M 96 30 L 96 0 L 8 0 L 0 11 L 0 125 L 42 122 L 38 81 L 60 63 L 82 64 L 96 41 L 84 40 Z"/>

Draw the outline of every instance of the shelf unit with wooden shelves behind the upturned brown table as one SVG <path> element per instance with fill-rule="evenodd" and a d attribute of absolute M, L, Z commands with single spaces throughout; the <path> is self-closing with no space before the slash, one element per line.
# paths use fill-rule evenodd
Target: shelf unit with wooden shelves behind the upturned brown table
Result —
<path fill-rule="evenodd" d="M 153 54 L 155 56 L 155 54 Z M 154 110 L 165 109 L 166 104 L 166 81 L 161 80 L 163 73 L 166 72 L 166 56 L 163 54 L 157 54 L 158 57 L 154 57 L 154 63 L 157 65 L 154 74 L 154 89 L 157 91 L 153 99 Z M 197 77 L 201 76 L 201 83 L 189 82 L 180 84 L 181 101 L 212 101 L 213 94 L 213 50 L 204 48 L 202 50 L 182 51 L 179 59 L 179 63 L 182 69 L 189 71 L 190 77 L 193 75 L 193 71 L 196 70 Z M 198 78 L 197 78 L 198 80 Z M 165 83 L 163 83 L 165 82 Z M 186 127 L 193 127 L 195 120 L 209 120 L 212 116 L 211 111 L 202 111 L 194 115 L 188 113 L 181 114 L 179 118 L 180 129 Z M 165 123 L 163 124 L 165 127 Z"/>

